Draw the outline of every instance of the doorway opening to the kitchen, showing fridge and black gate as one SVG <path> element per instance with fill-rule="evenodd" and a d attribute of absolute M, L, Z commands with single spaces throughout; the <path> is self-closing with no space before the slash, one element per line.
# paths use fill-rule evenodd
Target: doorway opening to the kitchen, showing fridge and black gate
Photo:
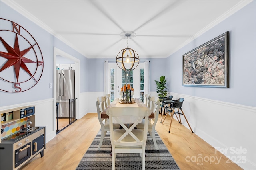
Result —
<path fill-rule="evenodd" d="M 80 60 L 54 48 L 54 130 L 56 134 L 76 121 L 80 94 Z M 72 80 L 72 83 L 70 83 Z M 67 92 L 68 89 L 68 92 Z"/>

